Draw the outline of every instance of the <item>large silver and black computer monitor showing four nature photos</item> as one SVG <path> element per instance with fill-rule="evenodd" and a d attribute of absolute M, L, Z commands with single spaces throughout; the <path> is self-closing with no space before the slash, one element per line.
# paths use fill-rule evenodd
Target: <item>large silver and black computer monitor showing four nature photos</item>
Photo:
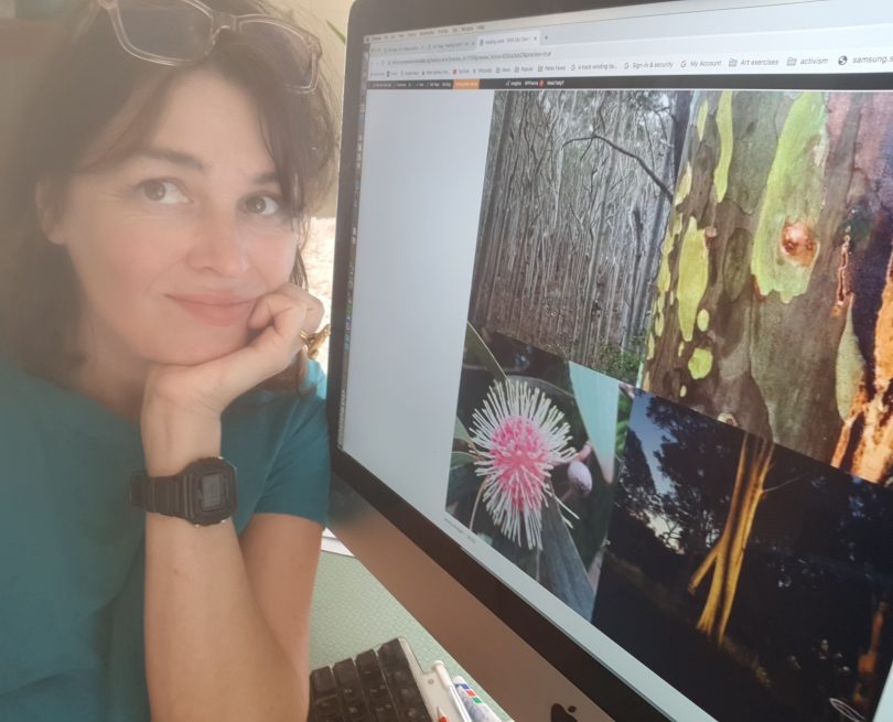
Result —
<path fill-rule="evenodd" d="M 354 6 L 332 525 L 518 722 L 893 719 L 891 37 Z"/>

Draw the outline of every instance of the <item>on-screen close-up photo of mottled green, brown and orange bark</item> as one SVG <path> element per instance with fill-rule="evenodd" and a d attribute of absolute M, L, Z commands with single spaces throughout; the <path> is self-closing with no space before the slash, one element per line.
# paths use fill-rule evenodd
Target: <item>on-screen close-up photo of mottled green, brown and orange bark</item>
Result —
<path fill-rule="evenodd" d="M 700 91 L 642 385 L 893 474 L 893 94 Z"/>

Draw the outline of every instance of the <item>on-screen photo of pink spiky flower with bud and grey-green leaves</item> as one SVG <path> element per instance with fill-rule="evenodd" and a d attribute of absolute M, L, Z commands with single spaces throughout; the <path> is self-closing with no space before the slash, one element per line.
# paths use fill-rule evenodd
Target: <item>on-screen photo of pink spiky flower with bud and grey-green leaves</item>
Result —
<path fill-rule="evenodd" d="M 632 388 L 467 325 L 446 510 L 592 617 Z"/>

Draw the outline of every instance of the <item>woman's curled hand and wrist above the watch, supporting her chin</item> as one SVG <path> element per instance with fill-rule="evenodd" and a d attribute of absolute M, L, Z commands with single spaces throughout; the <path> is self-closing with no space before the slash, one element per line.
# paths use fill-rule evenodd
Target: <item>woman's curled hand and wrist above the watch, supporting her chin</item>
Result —
<path fill-rule="evenodd" d="M 175 474 L 200 456 L 219 454 L 219 419 L 245 391 L 288 368 L 322 321 L 322 302 L 286 283 L 261 297 L 238 351 L 196 366 L 153 366 L 143 391 L 142 444 L 152 475 Z"/>

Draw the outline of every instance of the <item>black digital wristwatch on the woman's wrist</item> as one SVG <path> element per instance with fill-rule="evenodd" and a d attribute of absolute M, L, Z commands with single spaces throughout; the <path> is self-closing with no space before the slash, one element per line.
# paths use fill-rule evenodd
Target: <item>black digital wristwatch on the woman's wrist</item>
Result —
<path fill-rule="evenodd" d="M 200 459 L 173 476 L 133 474 L 130 503 L 147 511 L 206 527 L 236 510 L 236 467 L 219 456 Z"/>

